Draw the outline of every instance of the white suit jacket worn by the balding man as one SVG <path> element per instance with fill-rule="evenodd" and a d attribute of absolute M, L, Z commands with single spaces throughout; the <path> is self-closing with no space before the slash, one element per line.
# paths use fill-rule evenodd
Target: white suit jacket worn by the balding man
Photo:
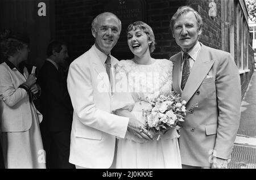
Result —
<path fill-rule="evenodd" d="M 110 114 L 112 92 L 95 45 L 71 63 L 68 92 L 74 108 L 69 162 L 85 168 L 112 165 L 115 136 L 124 138 L 129 118 Z M 112 67 L 118 62 L 110 55 Z"/>

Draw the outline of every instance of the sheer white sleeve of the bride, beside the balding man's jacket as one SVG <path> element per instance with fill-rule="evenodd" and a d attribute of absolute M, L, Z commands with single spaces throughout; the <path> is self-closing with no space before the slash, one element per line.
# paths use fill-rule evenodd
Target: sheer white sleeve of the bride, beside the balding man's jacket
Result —
<path fill-rule="evenodd" d="M 131 111 L 134 106 L 134 99 L 129 92 L 127 80 L 127 68 L 125 62 L 119 62 L 114 66 L 114 83 L 111 110 L 128 109 Z"/>

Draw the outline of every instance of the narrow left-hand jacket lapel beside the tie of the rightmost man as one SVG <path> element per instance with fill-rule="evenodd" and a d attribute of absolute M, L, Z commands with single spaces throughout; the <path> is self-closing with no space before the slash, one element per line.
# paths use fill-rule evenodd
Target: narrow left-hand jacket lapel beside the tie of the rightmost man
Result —
<path fill-rule="evenodd" d="M 180 78 L 181 78 L 181 53 L 177 54 L 176 57 L 172 60 L 174 63 L 174 72 L 172 74 L 174 91 L 181 95 L 181 88 L 180 88 Z"/>

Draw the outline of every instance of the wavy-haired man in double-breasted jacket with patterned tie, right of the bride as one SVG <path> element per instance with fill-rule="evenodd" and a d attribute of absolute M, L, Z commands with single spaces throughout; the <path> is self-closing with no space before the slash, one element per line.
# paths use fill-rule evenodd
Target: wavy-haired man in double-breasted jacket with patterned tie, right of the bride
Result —
<path fill-rule="evenodd" d="M 180 7 L 170 23 L 181 48 L 170 58 L 173 88 L 188 109 L 180 131 L 181 162 L 183 168 L 227 168 L 240 121 L 240 75 L 231 54 L 198 41 L 202 24 L 188 6 Z"/>

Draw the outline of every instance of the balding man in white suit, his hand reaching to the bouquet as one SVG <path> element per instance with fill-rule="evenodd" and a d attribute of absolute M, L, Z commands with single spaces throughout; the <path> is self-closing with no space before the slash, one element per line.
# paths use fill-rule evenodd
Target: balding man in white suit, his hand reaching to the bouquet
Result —
<path fill-rule="evenodd" d="M 74 108 L 69 162 L 76 168 L 110 168 L 115 136 L 125 138 L 127 130 L 139 138 L 152 138 L 137 119 L 110 114 L 113 72 L 105 63 L 111 61 L 113 67 L 118 62 L 110 51 L 120 32 L 117 16 L 98 15 L 92 22 L 95 44 L 69 67 L 67 85 Z"/>

